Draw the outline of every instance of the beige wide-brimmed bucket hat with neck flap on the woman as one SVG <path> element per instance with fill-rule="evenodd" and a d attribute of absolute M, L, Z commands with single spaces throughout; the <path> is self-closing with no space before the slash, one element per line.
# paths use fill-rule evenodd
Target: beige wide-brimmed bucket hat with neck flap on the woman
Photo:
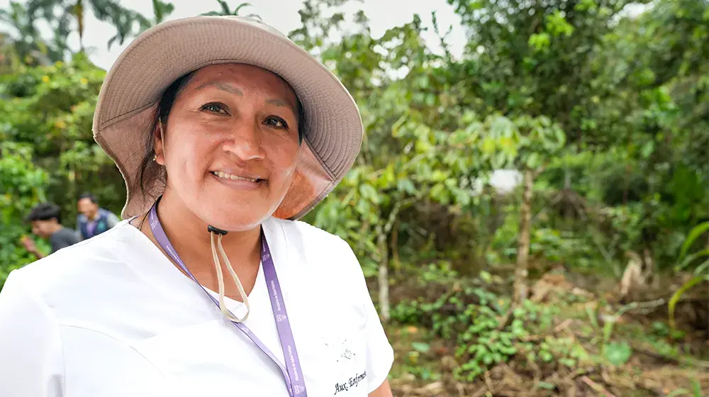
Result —
<path fill-rule="evenodd" d="M 152 133 L 157 102 L 169 84 L 207 65 L 244 63 L 288 82 L 305 112 L 305 131 L 294 180 L 277 218 L 304 216 L 352 167 L 362 145 L 357 104 L 318 60 L 261 21 L 238 16 L 198 16 L 161 23 L 123 51 L 101 86 L 94 113 L 94 139 L 125 179 L 123 218 L 141 215 L 162 194 L 160 183 L 144 196 L 140 163 Z"/>

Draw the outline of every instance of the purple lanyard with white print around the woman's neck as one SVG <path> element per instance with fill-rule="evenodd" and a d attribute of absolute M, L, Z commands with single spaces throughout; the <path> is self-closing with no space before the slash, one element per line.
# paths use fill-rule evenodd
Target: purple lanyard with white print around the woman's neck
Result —
<path fill-rule="evenodd" d="M 150 222 L 150 230 L 152 230 L 152 235 L 155 236 L 160 247 L 164 252 L 177 263 L 180 269 L 189 275 L 192 281 L 196 282 L 197 285 L 204 291 L 206 296 L 208 296 L 214 304 L 219 307 L 219 302 L 214 298 L 211 293 L 199 284 L 199 281 L 194 278 L 192 273 L 187 269 L 182 259 L 177 255 L 177 251 L 172 247 L 170 240 L 165 235 L 165 231 L 162 229 L 160 224 L 160 219 L 157 218 L 157 202 L 150 208 L 150 214 L 148 215 L 148 222 Z M 264 269 L 264 278 L 266 279 L 267 289 L 269 291 L 269 297 L 271 298 L 271 307 L 273 308 L 274 320 L 276 320 L 276 328 L 278 330 L 278 338 L 281 341 L 281 349 L 283 350 L 283 356 L 286 360 L 286 366 L 284 367 L 276 358 L 276 356 L 269 350 L 266 345 L 259 340 L 256 335 L 246 325 L 242 323 L 236 323 L 232 321 L 236 328 L 244 332 L 244 335 L 249 337 L 249 339 L 254 342 L 262 352 L 264 352 L 278 367 L 281 369 L 281 374 L 286 381 L 286 387 L 288 388 L 288 393 L 291 397 L 303 396 L 307 397 L 308 392 L 306 391 L 306 384 L 303 381 L 303 371 L 301 370 L 301 362 L 298 359 L 298 352 L 296 351 L 296 342 L 293 339 L 293 332 L 291 332 L 291 323 L 288 320 L 288 315 L 286 314 L 286 303 L 281 299 L 283 295 L 281 293 L 281 284 L 278 282 L 278 276 L 276 275 L 276 267 L 273 264 L 273 258 L 271 257 L 271 250 L 269 250 L 268 243 L 266 242 L 266 236 L 261 230 L 261 262 Z"/>

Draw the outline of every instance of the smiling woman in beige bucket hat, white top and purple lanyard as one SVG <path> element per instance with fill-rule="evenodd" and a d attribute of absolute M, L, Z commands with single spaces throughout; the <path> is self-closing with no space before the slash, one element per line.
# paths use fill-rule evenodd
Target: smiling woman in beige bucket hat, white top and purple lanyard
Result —
<path fill-rule="evenodd" d="M 9 276 L 4 396 L 391 396 L 357 259 L 294 221 L 362 142 L 333 74 L 258 21 L 163 23 L 108 72 L 94 136 L 127 220 Z"/>

